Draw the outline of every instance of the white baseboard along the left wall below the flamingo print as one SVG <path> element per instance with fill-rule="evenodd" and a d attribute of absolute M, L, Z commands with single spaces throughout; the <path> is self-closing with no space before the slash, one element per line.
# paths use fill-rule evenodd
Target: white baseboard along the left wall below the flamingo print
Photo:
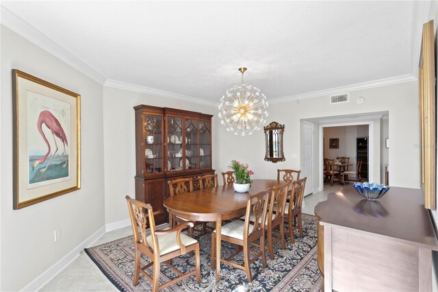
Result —
<path fill-rule="evenodd" d="M 94 232 L 91 236 L 88 237 L 85 241 L 82 241 L 75 247 L 71 252 L 66 254 L 63 258 L 58 260 L 54 265 L 49 267 L 46 271 L 43 271 L 40 276 L 36 277 L 33 281 L 27 284 L 20 291 L 39 291 L 45 284 L 47 284 L 50 280 L 52 280 L 60 271 L 65 269 L 68 265 L 70 265 L 75 258 L 79 256 L 79 253 L 86 247 L 89 247 L 99 239 L 103 234 L 105 234 L 105 227 L 99 228 L 96 232 Z"/>

